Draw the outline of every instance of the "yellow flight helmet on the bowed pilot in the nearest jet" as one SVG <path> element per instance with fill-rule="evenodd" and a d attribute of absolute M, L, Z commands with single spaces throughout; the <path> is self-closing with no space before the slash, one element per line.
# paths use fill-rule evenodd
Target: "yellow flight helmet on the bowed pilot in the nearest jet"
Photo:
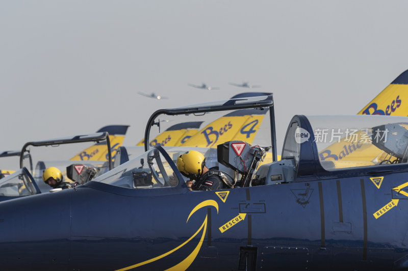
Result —
<path fill-rule="evenodd" d="M 198 180 L 206 165 L 206 158 L 196 150 L 189 150 L 177 158 L 176 165 L 184 176 Z"/>

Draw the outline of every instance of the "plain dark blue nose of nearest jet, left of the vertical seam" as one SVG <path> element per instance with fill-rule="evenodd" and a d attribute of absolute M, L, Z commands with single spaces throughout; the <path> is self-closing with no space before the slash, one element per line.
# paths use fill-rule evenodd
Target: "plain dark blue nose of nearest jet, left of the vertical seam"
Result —
<path fill-rule="evenodd" d="M 65 193 L 64 193 L 65 192 Z M 0 203 L 0 266 L 68 264 L 70 191 L 38 194 Z M 45 268 L 46 267 L 46 268 Z M 24 269 L 24 268 L 21 268 Z"/>

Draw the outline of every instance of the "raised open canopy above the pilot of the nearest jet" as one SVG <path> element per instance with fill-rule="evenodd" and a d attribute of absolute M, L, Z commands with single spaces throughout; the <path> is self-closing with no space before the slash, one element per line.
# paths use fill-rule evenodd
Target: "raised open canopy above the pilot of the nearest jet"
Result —
<path fill-rule="evenodd" d="M 152 114 L 146 126 L 145 150 L 163 147 L 216 148 L 231 140 L 271 146 L 276 160 L 272 95 L 241 97 L 173 109 Z"/>

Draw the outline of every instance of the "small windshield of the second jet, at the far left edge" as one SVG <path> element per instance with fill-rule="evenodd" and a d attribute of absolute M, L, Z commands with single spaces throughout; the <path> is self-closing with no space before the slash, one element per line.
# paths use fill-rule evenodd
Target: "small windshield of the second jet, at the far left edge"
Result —
<path fill-rule="evenodd" d="M 0 196 L 19 197 L 39 193 L 27 169 L 21 168 L 0 180 Z"/>

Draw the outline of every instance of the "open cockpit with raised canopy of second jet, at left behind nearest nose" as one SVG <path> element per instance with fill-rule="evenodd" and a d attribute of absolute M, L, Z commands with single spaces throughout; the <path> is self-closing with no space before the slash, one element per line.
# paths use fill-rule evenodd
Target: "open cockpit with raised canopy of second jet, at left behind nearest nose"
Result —
<path fill-rule="evenodd" d="M 96 144 L 90 146 L 90 143 Z M 29 169 L 40 191 L 44 193 L 50 190 L 50 186 L 42 180 L 46 168 L 58 168 L 63 182 L 81 185 L 112 169 L 111 150 L 107 132 L 32 141 L 25 143 L 19 152 L 20 168 Z M 79 155 L 69 159 L 73 152 Z M 93 156 L 101 159 L 105 156 L 106 160 L 99 161 Z"/>

